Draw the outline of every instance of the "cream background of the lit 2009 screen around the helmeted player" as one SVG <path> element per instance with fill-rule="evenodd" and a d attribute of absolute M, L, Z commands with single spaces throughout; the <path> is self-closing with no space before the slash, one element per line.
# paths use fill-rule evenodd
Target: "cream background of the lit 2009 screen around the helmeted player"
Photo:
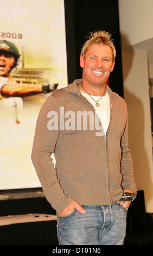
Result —
<path fill-rule="evenodd" d="M 21 90 L 49 85 L 50 93 L 67 85 L 63 0 L 2 0 L 0 23 L 0 40 L 12 42 L 20 53 L 10 73 L 12 83 Z M 1 84 L 3 80 L 0 76 Z M 41 186 L 31 148 L 37 115 L 50 93 L 0 96 L 0 190 Z"/>

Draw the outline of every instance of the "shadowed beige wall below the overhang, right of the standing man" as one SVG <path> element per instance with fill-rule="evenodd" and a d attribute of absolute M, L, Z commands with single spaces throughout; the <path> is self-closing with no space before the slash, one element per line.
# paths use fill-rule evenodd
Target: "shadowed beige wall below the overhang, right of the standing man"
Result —
<path fill-rule="evenodd" d="M 138 190 L 144 190 L 147 212 L 153 212 L 152 141 L 147 53 L 122 50 L 124 95 L 129 114 L 129 148 Z"/>

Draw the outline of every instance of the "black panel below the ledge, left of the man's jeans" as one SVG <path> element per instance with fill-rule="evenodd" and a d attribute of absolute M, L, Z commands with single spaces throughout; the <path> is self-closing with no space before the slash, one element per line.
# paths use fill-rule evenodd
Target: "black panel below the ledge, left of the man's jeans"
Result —
<path fill-rule="evenodd" d="M 1 226 L 0 245 L 58 245 L 56 221 Z"/>

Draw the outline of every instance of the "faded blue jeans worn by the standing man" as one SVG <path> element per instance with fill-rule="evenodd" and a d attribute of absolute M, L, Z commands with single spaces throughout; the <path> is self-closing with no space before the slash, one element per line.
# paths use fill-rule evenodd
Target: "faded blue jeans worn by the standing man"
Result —
<path fill-rule="evenodd" d="M 74 210 L 57 218 L 59 245 L 123 245 L 126 209 L 120 204 L 82 206 L 86 214 Z"/>

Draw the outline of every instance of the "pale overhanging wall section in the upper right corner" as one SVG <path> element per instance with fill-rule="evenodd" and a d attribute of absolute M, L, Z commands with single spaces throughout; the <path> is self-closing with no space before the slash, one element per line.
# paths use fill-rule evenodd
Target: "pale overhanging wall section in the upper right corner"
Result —
<path fill-rule="evenodd" d="M 152 0 L 118 0 L 118 5 L 123 48 L 153 37 Z"/>

